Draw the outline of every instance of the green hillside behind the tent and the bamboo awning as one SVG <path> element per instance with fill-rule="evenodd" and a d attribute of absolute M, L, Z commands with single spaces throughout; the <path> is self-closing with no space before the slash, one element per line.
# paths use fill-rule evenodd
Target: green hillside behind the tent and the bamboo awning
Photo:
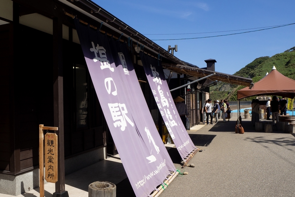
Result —
<path fill-rule="evenodd" d="M 266 56 L 256 58 L 253 62 L 233 75 L 252 78 L 255 83 L 262 79 L 267 72 L 270 72 L 273 66 L 275 66 L 281 74 L 295 80 L 295 47 L 272 57 Z M 236 101 L 237 90 L 244 87 L 245 86 L 227 85 L 224 82 L 219 82 L 216 86 L 210 87 L 210 98 L 212 98 L 212 100 L 228 99 L 230 101 Z M 248 97 L 242 100 L 252 100 L 253 98 L 254 97 Z"/>

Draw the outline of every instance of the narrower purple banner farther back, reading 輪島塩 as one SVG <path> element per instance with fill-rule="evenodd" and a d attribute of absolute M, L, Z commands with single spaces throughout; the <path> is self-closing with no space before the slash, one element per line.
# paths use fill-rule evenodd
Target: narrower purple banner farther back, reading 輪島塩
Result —
<path fill-rule="evenodd" d="M 150 88 L 158 105 L 163 121 L 170 137 L 183 159 L 196 149 L 191 141 L 185 126 L 183 125 L 176 106 L 171 97 L 168 84 L 165 79 L 161 62 L 140 52 L 140 58 L 148 78 Z"/>

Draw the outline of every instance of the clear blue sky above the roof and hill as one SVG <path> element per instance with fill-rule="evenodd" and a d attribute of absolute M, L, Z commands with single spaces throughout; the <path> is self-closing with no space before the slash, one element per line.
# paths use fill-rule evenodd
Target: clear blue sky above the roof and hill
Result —
<path fill-rule="evenodd" d="M 218 32 L 295 23 L 295 1 L 175 1 L 108 0 L 96 4 L 149 39 L 197 38 L 245 32 Z M 257 29 L 253 29 L 257 30 Z M 234 74 L 255 58 L 273 56 L 295 46 L 295 25 L 238 35 L 190 40 L 154 41 L 164 49 L 178 45 L 179 59 L 206 67 L 215 59 L 215 71 Z M 269 68 L 270 71 L 272 68 Z"/>

